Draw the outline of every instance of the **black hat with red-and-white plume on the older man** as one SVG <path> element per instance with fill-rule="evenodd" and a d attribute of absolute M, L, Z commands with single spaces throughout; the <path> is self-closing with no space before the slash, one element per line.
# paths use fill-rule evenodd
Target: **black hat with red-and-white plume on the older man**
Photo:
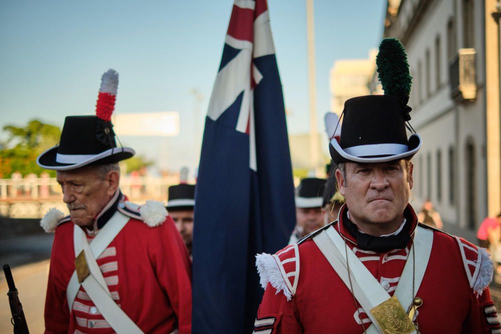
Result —
<path fill-rule="evenodd" d="M 128 147 L 117 147 L 111 114 L 115 108 L 118 73 L 103 74 L 96 116 L 68 116 L 59 144 L 43 152 L 37 163 L 54 170 L 72 170 L 90 165 L 115 163 L 134 155 Z"/>

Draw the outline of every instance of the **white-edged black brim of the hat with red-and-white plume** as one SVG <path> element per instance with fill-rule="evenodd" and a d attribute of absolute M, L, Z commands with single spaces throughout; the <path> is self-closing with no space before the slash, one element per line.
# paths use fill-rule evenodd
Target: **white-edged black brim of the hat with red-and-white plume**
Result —
<path fill-rule="evenodd" d="M 72 170 L 91 165 L 103 165 L 116 163 L 128 158 L 131 158 L 135 151 L 129 147 L 110 148 L 99 154 L 90 155 L 86 159 L 82 159 L 78 163 L 66 164 L 57 162 L 58 146 L 54 146 L 40 154 L 37 158 L 37 163 L 40 167 L 52 170 Z"/>

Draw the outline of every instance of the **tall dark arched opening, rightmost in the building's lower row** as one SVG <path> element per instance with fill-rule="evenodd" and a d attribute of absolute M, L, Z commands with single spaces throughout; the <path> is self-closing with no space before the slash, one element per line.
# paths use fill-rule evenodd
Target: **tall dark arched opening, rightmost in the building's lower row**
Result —
<path fill-rule="evenodd" d="M 468 228 L 475 229 L 476 201 L 475 201 L 475 146 L 473 140 L 468 139 L 465 147 L 466 158 L 466 224 Z"/>

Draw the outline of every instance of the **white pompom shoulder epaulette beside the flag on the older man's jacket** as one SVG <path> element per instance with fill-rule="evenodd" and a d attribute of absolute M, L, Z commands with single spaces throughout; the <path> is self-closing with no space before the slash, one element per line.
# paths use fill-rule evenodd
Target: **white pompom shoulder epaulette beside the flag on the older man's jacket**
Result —
<path fill-rule="evenodd" d="M 161 225 L 167 218 L 167 209 L 162 202 L 146 201 L 143 205 L 128 201 L 118 203 L 118 211 L 124 215 L 142 220 L 146 225 L 155 227 Z"/>

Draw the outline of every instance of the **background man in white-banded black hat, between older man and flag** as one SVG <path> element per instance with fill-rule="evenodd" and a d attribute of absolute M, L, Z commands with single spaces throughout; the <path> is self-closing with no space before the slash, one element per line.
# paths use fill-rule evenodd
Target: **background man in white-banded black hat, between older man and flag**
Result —
<path fill-rule="evenodd" d="M 195 206 L 195 185 L 181 183 L 169 187 L 167 210 L 191 255 L 193 244 L 193 209 Z"/>

